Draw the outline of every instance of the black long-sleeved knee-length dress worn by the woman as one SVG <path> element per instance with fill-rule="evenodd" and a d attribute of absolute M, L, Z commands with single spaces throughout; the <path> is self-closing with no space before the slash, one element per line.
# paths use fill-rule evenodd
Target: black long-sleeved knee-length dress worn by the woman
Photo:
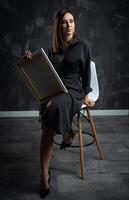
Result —
<path fill-rule="evenodd" d="M 64 135 L 71 128 L 74 115 L 80 110 L 83 99 L 90 88 L 90 52 L 85 39 L 75 38 L 69 47 L 55 54 L 49 51 L 48 57 L 68 89 L 52 98 L 47 109 L 41 105 L 42 128 L 52 129 Z"/>

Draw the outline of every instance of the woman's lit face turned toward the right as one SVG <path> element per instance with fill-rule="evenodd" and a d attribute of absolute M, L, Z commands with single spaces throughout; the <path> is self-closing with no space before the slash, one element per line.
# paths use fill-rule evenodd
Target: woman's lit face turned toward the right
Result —
<path fill-rule="evenodd" d="M 75 32 L 75 21 L 72 14 L 66 13 L 63 16 L 63 19 L 61 22 L 61 30 L 62 30 L 62 35 L 64 38 L 73 37 L 73 34 Z"/>

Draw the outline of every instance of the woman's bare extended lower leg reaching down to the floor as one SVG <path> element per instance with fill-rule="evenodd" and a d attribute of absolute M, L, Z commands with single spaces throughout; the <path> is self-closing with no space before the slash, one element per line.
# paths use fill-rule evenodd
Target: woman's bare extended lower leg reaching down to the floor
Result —
<path fill-rule="evenodd" d="M 44 129 L 41 136 L 40 144 L 40 167 L 41 167 L 41 181 L 44 189 L 49 188 L 49 166 L 53 150 L 53 134 L 49 129 Z"/>

